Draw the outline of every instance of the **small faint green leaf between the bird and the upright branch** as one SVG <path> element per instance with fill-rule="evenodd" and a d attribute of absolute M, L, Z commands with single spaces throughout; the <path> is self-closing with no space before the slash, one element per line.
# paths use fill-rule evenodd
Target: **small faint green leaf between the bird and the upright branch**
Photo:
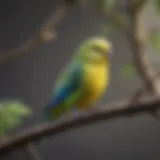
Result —
<path fill-rule="evenodd" d="M 121 74 L 125 78 L 133 77 L 135 72 L 136 72 L 136 69 L 133 62 L 129 62 L 121 68 Z"/>

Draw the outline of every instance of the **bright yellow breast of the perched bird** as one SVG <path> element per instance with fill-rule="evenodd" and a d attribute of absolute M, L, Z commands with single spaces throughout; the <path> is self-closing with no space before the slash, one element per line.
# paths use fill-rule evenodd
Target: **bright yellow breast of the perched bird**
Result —
<path fill-rule="evenodd" d="M 87 98 L 97 100 L 103 94 L 109 81 L 106 65 L 88 64 L 84 68 L 83 86 L 87 92 Z"/>

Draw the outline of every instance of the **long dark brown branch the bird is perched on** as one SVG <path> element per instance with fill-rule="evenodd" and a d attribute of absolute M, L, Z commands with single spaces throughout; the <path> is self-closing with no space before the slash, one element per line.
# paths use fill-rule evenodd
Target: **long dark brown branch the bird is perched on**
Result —
<path fill-rule="evenodd" d="M 17 136 L 13 136 L 8 141 L 0 144 L 0 154 L 11 152 L 17 147 L 25 146 L 28 142 L 38 141 L 46 136 L 56 135 L 69 129 L 82 127 L 99 120 L 110 120 L 116 117 L 131 116 L 138 113 L 152 112 L 160 108 L 160 99 L 157 97 L 143 98 L 137 103 L 121 101 L 106 107 L 96 108 L 75 118 L 64 118 L 55 121 L 53 124 L 41 124 L 24 130 Z"/>

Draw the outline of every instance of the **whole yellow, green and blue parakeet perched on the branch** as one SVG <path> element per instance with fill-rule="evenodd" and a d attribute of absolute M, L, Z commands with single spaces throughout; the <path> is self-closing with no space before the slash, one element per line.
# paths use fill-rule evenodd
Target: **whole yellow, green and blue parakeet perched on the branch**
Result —
<path fill-rule="evenodd" d="M 56 119 L 73 108 L 87 111 L 101 98 L 110 82 L 111 52 L 104 37 L 90 37 L 80 44 L 44 107 L 45 119 Z"/>

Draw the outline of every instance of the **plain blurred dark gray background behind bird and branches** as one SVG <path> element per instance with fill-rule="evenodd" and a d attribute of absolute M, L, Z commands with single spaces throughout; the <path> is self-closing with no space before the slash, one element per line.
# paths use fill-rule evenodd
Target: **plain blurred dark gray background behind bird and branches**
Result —
<path fill-rule="evenodd" d="M 1 1 L 0 47 L 11 49 L 34 35 L 55 6 L 53 0 Z M 41 122 L 41 108 L 51 95 L 57 74 L 76 45 L 91 35 L 98 35 L 105 22 L 99 13 L 73 7 L 58 27 L 56 41 L 0 66 L 1 98 L 21 98 L 33 110 L 33 115 L 16 130 Z M 99 106 L 124 99 L 141 85 L 138 78 L 128 80 L 120 74 L 120 67 L 131 59 L 125 38 L 117 31 L 112 33 L 110 40 L 114 44 L 112 81 Z M 41 143 L 38 150 L 46 160 L 158 160 L 159 125 L 148 115 L 98 122 L 51 137 Z M 18 150 L 2 159 L 29 158 L 23 150 Z"/>

